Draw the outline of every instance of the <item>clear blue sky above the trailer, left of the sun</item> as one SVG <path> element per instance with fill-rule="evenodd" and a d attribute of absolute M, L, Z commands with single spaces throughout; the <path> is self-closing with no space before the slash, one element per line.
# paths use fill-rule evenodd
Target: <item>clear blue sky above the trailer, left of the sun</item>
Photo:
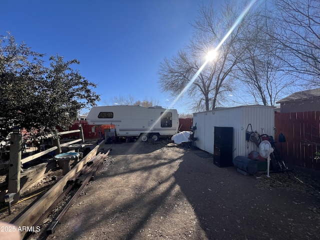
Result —
<path fill-rule="evenodd" d="M 207 2 L 219 0 L 204 0 Z M 98 84 L 99 105 L 112 96 L 152 98 L 170 106 L 159 89 L 157 70 L 164 57 L 177 53 L 192 35 L 202 0 L 1 0 L 0 35 L 64 60 Z M 183 102 L 173 105 L 190 112 Z"/>

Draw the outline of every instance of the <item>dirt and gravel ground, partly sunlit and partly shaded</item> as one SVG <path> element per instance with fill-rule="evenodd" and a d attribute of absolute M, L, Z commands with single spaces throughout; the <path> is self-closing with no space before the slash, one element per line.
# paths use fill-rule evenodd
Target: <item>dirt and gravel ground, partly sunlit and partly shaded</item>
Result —
<path fill-rule="evenodd" d="M 107 159 L 47 235 L 28 239 L 317 239 L 317 171 L 245 176 L 198 148 L 105 144 Z M 44 231 L 44 232 L 43 232 Z"/>

